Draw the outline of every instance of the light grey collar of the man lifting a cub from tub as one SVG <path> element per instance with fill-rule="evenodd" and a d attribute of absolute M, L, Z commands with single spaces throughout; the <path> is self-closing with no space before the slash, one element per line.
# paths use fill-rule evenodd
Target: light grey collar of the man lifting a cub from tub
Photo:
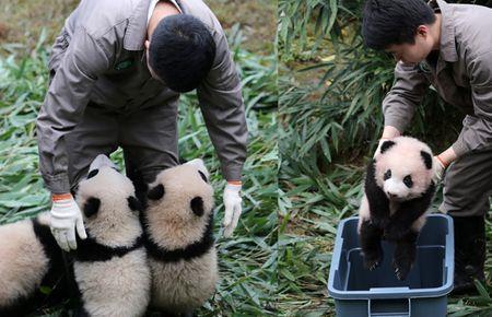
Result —
<path fill-rule="evenodd" d="M 437 0 L 436 2 L 441 10 L 440 55 L 445 61 L 456 62 L 458 61 L 458 54 L 456 51 L 453 7 L 447 4 L 444 0 Z"/>

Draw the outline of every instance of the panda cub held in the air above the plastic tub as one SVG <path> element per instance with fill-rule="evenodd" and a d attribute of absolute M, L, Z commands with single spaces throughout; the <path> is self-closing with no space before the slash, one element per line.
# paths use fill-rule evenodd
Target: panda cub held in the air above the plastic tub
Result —
<path fill-rule="evenodd" d="M 426 144 L 398 137 L 383 142 L 368 164 L 359 211 L 360 245 L 368 270 L 382 262 L 380 239 L 386 238 L 396 244 L 393 258 L 396 277 L 407 278 L 435 191 L 432 161 Z"/>

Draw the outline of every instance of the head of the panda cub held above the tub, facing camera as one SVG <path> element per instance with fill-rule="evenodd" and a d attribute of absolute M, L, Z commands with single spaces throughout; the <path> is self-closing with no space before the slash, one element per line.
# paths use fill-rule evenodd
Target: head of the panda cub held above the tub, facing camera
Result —
<path fill-rule="evenodd" d="M 432 184 L 432 151 L 417 139 L 398 137 L 385 141 L 374 160 L 376 184 L 389 200 L 420 197 Z"/>

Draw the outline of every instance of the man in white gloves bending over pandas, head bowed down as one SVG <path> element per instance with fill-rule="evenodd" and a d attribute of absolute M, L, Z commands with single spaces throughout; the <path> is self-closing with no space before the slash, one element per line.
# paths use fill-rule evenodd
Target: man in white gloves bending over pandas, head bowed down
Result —
<path fill-rule="evenodd" d="M 227 180 L 224 235 L 242 211 L 247 128 L 241 83 L 224 32 L 201 0 L 83 0 L 49 59 L 50 85 L 37 118 L 40 171 L 52 195 L 51 232 L 65 250 L 85 238 L 71 191 L 101 153 L 124 150 L 127 175 L 143 185 L 178 164 L 179 93 L 197 89 Z"/>

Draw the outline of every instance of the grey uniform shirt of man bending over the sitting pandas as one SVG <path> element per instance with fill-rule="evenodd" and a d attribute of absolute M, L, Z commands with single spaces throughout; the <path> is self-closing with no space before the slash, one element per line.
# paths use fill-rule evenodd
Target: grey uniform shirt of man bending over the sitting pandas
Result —
<path fill-rule="evenodd" d="M 239 179 L 246 158 L 247 127 L 239 78 L 215 15 L 201 0 L 177 1 L 201 20 L 216 45 L 215 60 L 197 89 L 207 129 L 226 179 Z M 165 105 L 177 93 L 153 79 L 147 67 L 150 0 L 82 0 L 52 47 L 55 74 L 37 118 L 39 166 L 54 193 L 69 192 L 67 134 L 87 103 L 115 111 Z"/>

